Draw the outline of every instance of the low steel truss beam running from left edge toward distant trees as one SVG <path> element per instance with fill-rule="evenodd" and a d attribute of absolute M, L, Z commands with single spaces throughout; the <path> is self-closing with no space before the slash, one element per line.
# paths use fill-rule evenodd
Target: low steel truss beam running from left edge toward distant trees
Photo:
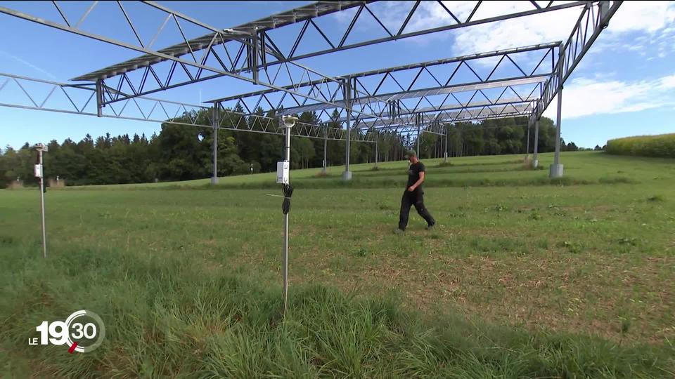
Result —
<path fill-rule="evenodd" d="M 11 89 L 13 93 L 9 93 Z M 25 97 L 22 98 L 22 94 Z M 90 85 L 63 84 L 12 74 L 0 73 L 0 99 L 4 99 L 0 102 L 1 107 L 212 128 L 212 112 L 210 112 L 212 107 L 138 97 L 106 107 L 103 114 L 98 114 L 96 89 Z M 283 129 L 277 126 L 278 119 L 273 117 L 240 114 L 222 107 L 219 108 L 219 113 L 218 128 L 220 129 L 284 135 Z M 200 117 L 200 114 L 204 114 L 205 120 Z M 177 119 L 187 119 L 187 121 L 177 121 Z M 297 137 L 345 140 L 344 129 L 303 122 L 297 122 L 295 125 L 293 135 Z M 352 133 L 352 139 L 364 142 L 374 141 L 372 135 L 368 133 Z"/>

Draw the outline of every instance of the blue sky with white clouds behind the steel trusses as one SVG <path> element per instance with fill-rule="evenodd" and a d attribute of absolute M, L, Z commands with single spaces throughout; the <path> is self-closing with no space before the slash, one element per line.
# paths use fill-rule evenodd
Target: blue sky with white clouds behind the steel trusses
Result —
<path fill-rule="evenodd" d="M 181 11 L 215 27 L 232 27 L 262 18 L 271 13 L 294 8 L 307 1 L 233 1 L 212 3 L 207 1 L 162 2 L 169 8 Z M 463 13 L 473 8 L 473 1 L 446 2 L 448 8 Z M 70 19 L 77 19 L 88 4 L 60 3 Z M 116 36 L 131 41 L 133 35 L 124 25 L 109 17 L 114 3 L 97 6 L 82 24 L 98 34 Z M 144 36 L 151 36 L 162 22 L 158 13 L 146 6 L 124 3 L 136 27 Z M 489 6 L 487 6 L 489 5 Z M 51 3 L 4 1 L 2 6 L 56 20 Z M 482 6 L 484 15 L 490 12 L 512 11 L 522 7 L 513 1 L 489 2 Z M 401 14 L 410 5 L 399 1 L 375 3 L 373 11 L 381 15 L 386 26 L 396 27 Z M 446 13 L 433 2 L 424 2 L 418 15 L 411 20 L 411 27 L 427 27 L 444 22 Z M 380 46 L 356 48 L 333 55 L 323 55 L 302 63 L 328 75 L 348 74 L 368 69 L 392 67 L 425 60 L 451 58 L 456 55 L 493 51 L 501 48 L 526 46 L 565 39 L 572 29 L 578 10 L 537 15 L 532 18 L 507 20 L 489 25 L 479 25 L 420 36 Z M 347 27 L 352 11 L 330 15 L 317 20 L 319 25 L 336 25 L 335 30 Z M 141 22 L 142 21 L 142 22 Z M 99 41 L 75 36 L 56 29 L 24 20 L 0 15 L 0 72 L 24 75 L 53 81 L 68 81 L 79 74 L 94 71 L 138 55 L 134 51 L 110 46 Z M 186 27 L 188 38 L 205 34 L 203 30 Z M 290 40 L 290 29 L 279 32 L 275 41 Z M 297 29 L 295 30 L 297 33 Z M 382 33 L 375 22 L 363 22 L 354 29 L 350 38 L 358 41 Z M 284 38 L 285 37 L 285 38 Z M 335 36 L 329 35 L 329 38 Z M 148 37 L 149 39 L 149 37 Z M 155 48 L 178 42 L 170 32 L 161 34 Z M 307 46 L 321 44 L 318 36 L 309 36 Z M 314 45 L 313 45 L 314 44 Z M 280 46 L 283 49 L 283 46 Z M 610 27 L 600 35 L 596 44 L 565 84 L 563 91 L 563 138 L 577 145 L 593 147 L 603 145 L 610 138 L 625 135 L 675 132 L 675 2 L 624 1 Z M 524 57 L 524 60 L 529 58 Z M 479 67 L 488 69 L 489 67 Z M 255 89 L 237 79 L 218 79 L 212 83 L 194 84 L 176 88 L 155 97 L 198 103 L 200 100 L 218 98 Z M 0 102 L 15 100 L 21 93 L 17 88 L 0 91 Z M 555 104 L 555 103 L 553 103 Z M 550 107 L 546 116 L 554 116 Z M 158 124 L 143 121 L 98 119 L 71 114 L 39 112 L 0 107 L 3 120 L 0 146 L 20 147 L 24 142 L 47 142 L 65 138 L 81 139 L 86 133 L 97 136 L 105 133 L 146 133 L 159 130 Z"/>

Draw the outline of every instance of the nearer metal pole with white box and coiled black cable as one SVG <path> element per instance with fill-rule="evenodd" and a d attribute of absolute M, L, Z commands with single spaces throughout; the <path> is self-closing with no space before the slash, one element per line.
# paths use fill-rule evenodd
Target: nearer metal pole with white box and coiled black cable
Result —
<path fill-rule="evenodd" d="M 293 187 L 290 186 L 290 128 L 293 128 L 297 117 L 282 117 L 285 128 L 284 160 L 276 165 L 276 182 L 283 185 L 283 255 L 281 256 L 281 271 L 283 274 L 283 312 L 288 304 L 288 212 L 290 211 L 290 197 Z"/>

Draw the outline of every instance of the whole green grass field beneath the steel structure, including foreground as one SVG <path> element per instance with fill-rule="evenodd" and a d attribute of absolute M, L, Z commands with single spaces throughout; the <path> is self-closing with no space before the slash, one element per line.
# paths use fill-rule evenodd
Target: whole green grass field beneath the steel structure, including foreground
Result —
<path fill-rule="evenodd" d="M 393 234 L 406 163 L 293 171 L 280 316 L 274 173 L 46 193 L 0 190 L 4 377 L 672 378 L 675 160 L 424 160 L 424 230 Z M 101 314 L 96 352 L 29 347 Z"/>

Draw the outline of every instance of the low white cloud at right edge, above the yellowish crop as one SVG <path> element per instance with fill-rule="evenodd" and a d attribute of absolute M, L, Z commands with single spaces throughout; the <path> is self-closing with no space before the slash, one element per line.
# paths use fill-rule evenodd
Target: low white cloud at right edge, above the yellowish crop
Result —
<path fill-rule="evenodd" d="M 563 89 L 563 119 L 638 112 L 675 105 L 675 74 L 645 81 L 574 79 Z M 555 100 L 546 117 L 555 117 Z"/>

